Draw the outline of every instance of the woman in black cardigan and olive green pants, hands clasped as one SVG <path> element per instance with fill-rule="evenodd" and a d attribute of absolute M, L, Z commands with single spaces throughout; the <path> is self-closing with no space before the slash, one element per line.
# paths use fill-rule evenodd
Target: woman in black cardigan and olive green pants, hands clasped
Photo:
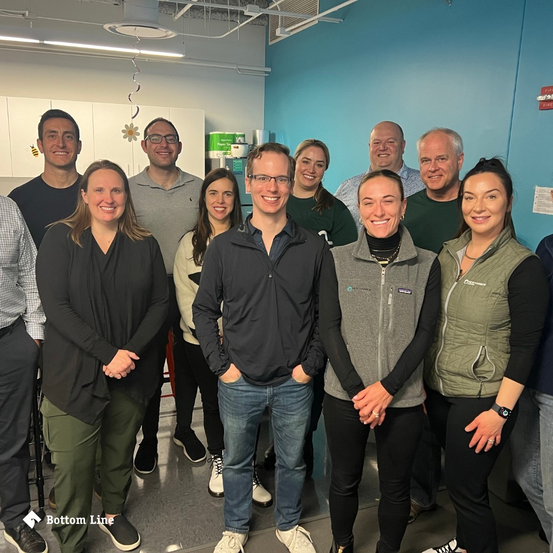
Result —
<path fill-rule="evenodd" d="M 140 536 L 122 510 L 158 377 L 150 342 L 167 314 L 167 278 L 118 165 L 92 163 L 80 192 L 75 213 L 49 229 L 36 258 L 47 319 L 41 411 L 61 518 L 52 531 L 61 553 L 84 550 L 100 441 L 100 528 L 128 551 Z"/>

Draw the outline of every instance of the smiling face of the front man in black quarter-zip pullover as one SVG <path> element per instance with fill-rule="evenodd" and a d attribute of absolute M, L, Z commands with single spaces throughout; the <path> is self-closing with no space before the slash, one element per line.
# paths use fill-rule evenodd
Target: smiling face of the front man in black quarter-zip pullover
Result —
<path fill-rule="evenodd" d="M 252 163 L 252 175 L 267 175 L 270 177 L 289 177 L 290 165 L 284 154 L 263 152 L 260 158 Z M 252 194 L 253 213 L 256 215 L 280 216 L 286 213 L 286 202 L 294 189 L 290 184 L 277 184 L 270 179 L 264 184 L 246 177 L 246 191 Z"/>

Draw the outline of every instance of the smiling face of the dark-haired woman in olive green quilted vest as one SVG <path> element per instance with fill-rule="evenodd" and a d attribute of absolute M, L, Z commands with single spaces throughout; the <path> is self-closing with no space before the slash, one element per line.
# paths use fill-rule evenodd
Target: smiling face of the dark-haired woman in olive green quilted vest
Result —
<path fill-rule="evenodd" d="M 493 241 L 505 226 L 505 215 L 513 198 L 507 197 L 505 186 L 493 173 L 479 173 L 466 179 L 463 186 L 462 211 L 473 236 Z"/>

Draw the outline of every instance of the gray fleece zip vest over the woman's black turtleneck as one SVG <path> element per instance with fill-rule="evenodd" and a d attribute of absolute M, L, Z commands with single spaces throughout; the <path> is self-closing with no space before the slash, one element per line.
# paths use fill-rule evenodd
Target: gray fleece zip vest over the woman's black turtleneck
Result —
<path fill-rule="evenodd" d="M 368 386 L 386 377 L 409 345 L 436 254 L 416 248 L 407 229 L 399 227 L 397 258 L 383 268 L 369 251 L 362 232 L 347 246 L 332 248 L 342 310 L 341 333 L 357 373 Z M 349 400 L 329 363 L 325 391 Z M 422 363 L 394 395 L 390 407 L 412 407 L 424 401 Z"/>

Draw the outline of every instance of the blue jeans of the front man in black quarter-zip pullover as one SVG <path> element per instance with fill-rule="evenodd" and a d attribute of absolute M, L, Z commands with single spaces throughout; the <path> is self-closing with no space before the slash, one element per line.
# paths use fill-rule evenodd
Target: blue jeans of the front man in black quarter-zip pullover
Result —
<path fill-rule="evenodd" d="M 257 386 L 241 376 L 231 383 L 219 380 L 218 395 L 225 427 L 225 530 L 246 534 L 249 529 L 255 436 L 266 407 L 276 453 L 275 521 L 279 530 L 290 530 L 299 523 L 301 514 L 303 447 L 310 422 L 312 382 L 300 384 L 289 378 L 279 385 Z"/>

